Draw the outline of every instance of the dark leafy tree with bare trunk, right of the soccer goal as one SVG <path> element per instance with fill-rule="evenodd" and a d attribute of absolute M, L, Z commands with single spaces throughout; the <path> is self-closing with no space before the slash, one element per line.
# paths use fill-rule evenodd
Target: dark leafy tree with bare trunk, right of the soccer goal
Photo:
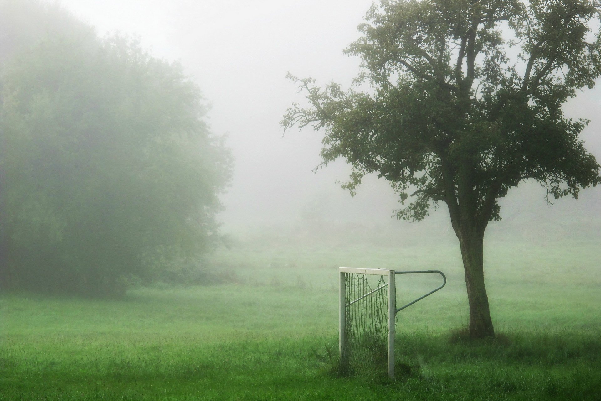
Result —
<path fill-rule="evenodd" d="M 381 1 L 347 54 L 362 71 L 349 90 L 298 79 L 309 106 L 282 124 L 325 127 L 324 164 L 389 180 L 419 221 L 445 203 L 459 239 L 471 337 L 495 334 L 484 285 L 483 240 L 499 198 L 526 179 L 547 195 L 578 197 L 601 182 L 578 139 L 587 125 L 562 105 L 601 72 L 596 0 Z M 361 91 L 361 85 L 366 87 Z"/>

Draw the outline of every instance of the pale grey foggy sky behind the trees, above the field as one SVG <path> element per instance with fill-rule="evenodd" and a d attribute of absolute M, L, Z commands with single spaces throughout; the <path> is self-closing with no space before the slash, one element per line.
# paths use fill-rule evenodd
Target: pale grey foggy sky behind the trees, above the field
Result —
<path fill-rule="evenodd" d="M 225 230 L 294 222 L 319 204 L 328 218 L 388 222 L 397 197 L 383 180 L 368 179 L 351 198 L 335 183 L 345 180 L 344 162 L 313 174 L 319 164 L 320 135 L 311 129 L 282 138 L 279 121 L 303 97 L 285 79 L 288 71 L 318 84 L 347 85 L 358 72 L 358 58 L 342 50 L 359 34 L 356 26 L 368 0 L 61 0 L 100 35 L 137 35 L 157 57 L 180 60 L 212 104 L 213 132 L 227 133 L 236 159 L 234 179 L 223 200 Z M 591 118 L 584 132 L 587 148 L 601 159 L 599 89 L 567 106 L 569 115 Z M 532 213 L 567 212 L 581 205 L 559 202 L 553 211 L 536 184 L 524 186 L 501 204 L 534 208 Z M 599 198 L 599 188 L 583 192 Z M 588 193 L 591 192 L 591 193 Z M 535 195 L 535 196 L 534 196 Z M 539 196 L 540 195 L 540 196 Z M 517 205 L 517 206 L 516 206 Z M 590 206 L 590 202 L 588 202 Z M 509 210 L 510 213 L 511 210 Z M 447 219 L 444 211 L 436 213 Z M 507 216 L 503 212 L 501 216 Z M 442 220 L 441 220 L 442 219 Z"/>

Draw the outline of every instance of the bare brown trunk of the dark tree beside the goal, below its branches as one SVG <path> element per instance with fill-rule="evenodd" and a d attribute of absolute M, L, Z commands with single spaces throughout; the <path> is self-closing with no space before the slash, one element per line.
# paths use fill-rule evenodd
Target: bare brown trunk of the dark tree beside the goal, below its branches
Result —
<path fill-rule="evenodd" d="M 457 230 L 461 246 L 465 284 L 469 302 L 469 337 L 494 337 L 495 329 L 490 319 L 486 286 L 484 286 L 484 232 L 476 228 Z"/>

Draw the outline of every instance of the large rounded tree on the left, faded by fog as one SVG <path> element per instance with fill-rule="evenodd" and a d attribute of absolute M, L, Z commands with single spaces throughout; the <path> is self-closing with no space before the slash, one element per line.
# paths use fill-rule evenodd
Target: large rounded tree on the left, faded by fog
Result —
<path fill-rule="evenodd" d="M 231 157 L 177 63 L 92 29 L 2 67 L 0 284 L 103 295 L 219 239 Z"/>

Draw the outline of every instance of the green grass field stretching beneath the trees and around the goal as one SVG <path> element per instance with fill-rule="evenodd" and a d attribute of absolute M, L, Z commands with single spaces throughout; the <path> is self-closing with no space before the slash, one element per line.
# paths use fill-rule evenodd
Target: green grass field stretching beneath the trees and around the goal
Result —
<path fill-rule="evenodd" d="M 2 400 L 599 400 L 601 246 L 489 243 L 494 342 L 470 343 L 457 247 L 239 246 L 228 283 L 0 297 Z M 332 375 L 337 266 L 441 269 L 398 316 L 395 381 Z M 398 304 L 438 286 L 403 277 Z"/>

